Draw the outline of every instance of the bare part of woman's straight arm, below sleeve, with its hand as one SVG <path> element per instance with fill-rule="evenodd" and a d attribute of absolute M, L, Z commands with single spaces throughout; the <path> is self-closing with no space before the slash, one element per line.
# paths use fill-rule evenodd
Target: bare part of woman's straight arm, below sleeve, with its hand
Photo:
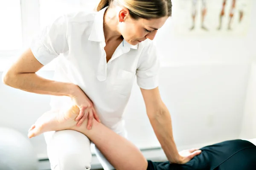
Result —
<path fill-rule="evenodd" d="M 186 156 L 181 156 L 178 153 L 172 133 L 172 119 L 161 99 L 158 87 L 151 90 L 141 88 L 141 92 L 151 126 L 170 163 L 185 164 L 200 154 L 199 152 L 191 152 Z"/>

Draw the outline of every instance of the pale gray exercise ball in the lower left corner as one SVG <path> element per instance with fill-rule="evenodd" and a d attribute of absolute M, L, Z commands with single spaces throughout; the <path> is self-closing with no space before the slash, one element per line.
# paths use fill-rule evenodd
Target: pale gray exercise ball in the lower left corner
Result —
<path fill-rule="evenodd" d="M 7 127 L 0 127 L 0 170 L 38 170 L 37 155 L 29 139 Z"/>

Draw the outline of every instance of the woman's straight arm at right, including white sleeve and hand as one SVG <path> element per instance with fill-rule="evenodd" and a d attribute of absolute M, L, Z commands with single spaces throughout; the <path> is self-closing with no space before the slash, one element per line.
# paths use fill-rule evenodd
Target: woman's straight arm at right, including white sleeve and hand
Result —
<path fill-rule="evenodd" d="M 157 57 L 156 45 L 153 41 L 143 49 L 138 62 L 137 84 L 139 85 L 146 105 L 146 111 L 154 133 L 159 140 L 166 157 L 172 163 L 184 164 L 195 156 L 180 156 L 172 134 L 172 120 L 158 90 L 158 74 L 160 59 Z"/>

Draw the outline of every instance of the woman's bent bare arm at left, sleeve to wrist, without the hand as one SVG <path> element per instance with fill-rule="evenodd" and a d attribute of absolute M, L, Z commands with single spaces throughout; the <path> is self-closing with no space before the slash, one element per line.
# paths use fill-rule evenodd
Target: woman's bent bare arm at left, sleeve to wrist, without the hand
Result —
<path fill-rule="evenodd" d="M 43 66 L 28 49 L 4 73 L 3 83 L 36 94 L 73 97 L 79 92 L 78 86 L 72 83 L 56 82 L 38 76 L 36 72 Z"/>

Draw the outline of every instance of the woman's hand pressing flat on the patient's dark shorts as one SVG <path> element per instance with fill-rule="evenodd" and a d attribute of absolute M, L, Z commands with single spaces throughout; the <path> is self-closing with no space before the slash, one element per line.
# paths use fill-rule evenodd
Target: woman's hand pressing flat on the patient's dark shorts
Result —
<path fill-rule="evenodd" d="M 189 150 L 182 150 L 179 152 L 180 154 L 180 160 L 177 162 L 177 164 L 186 164 L 189 162 L 192 158 L 199 155 L 202 151 L 198 149 L 189 149 Z"/>

